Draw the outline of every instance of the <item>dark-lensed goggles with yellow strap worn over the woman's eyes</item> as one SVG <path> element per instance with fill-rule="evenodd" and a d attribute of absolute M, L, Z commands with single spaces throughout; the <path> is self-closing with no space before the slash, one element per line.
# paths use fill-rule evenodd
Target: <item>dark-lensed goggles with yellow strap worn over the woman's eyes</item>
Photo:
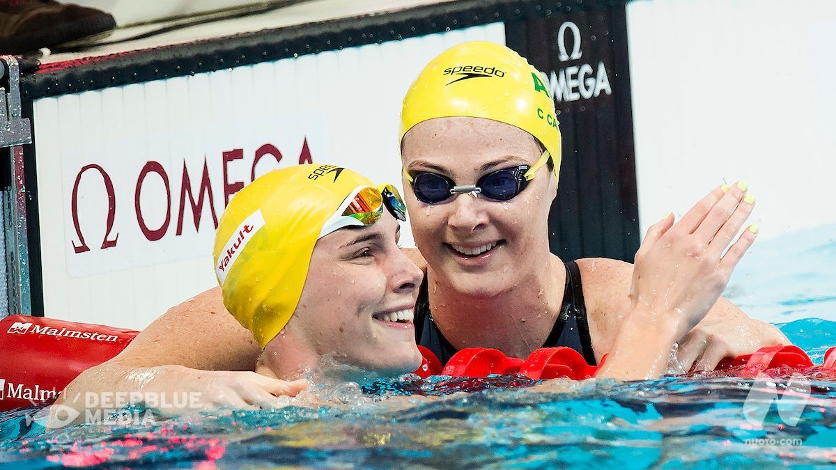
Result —
<path fill-rule="evenodd" d="M 533 166 L 519 165 L 502 170 L 492 171 L 482 176 L 474 185 L 456 186 L 456 182 L 449 177 L 431 171 L 406 171 L 404 176 L 410 182 L 412 191 L 419 201 L 436 204 L 447 198 L 463 192 L 483 194 L 485 197 L 497 201 L 507 201 L 517 196 L 528 186 L 534 174 L 551 159 L 548 151 L 543 151 Z"/>

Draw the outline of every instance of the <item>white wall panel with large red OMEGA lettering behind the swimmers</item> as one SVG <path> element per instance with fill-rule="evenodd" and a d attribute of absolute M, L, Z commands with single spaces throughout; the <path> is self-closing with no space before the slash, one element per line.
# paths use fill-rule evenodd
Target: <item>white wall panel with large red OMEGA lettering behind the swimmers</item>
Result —
<path fill-rule="evenodd" d="M 400 187 L 412 80 L 452 44 L 504 38 L 492 23 L 36 100 L 45 314 L 141 329 L 217 286 L 217 221 L 273 168 L 331 163 Z"/>

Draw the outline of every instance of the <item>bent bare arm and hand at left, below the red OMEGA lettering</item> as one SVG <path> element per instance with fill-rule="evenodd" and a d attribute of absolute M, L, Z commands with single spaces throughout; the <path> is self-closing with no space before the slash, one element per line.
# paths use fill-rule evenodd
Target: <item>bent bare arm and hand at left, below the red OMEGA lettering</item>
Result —
<path fill-rule="evenodd" d="M 191 392 L 199 398 L 189 407 L 196 403 L 198 410 L 206 410 L 270 406 L 275 395 L 293 396 L 307 386 L 305 381 L 279 381 L 252 372 L 260 354 L 249 330 L 223 307 L 221 289 L 208 290 L 169 309 L 119 355 L 70 382 L 56 401 L 59 406 L 54 406 L 50 426 L 69 424 L 55 415 L 60 406 L 78 411 L 74 422 L 83 422 L 88 409 L 92 415 L 96 409 L 110 409 L 103 406 L 108 403 L 119 405 L 115 408 L 125 405 L 118 397 L 173 403 L 161 399 Z M 164 413 L 187 411 L 156 408 Z"/>

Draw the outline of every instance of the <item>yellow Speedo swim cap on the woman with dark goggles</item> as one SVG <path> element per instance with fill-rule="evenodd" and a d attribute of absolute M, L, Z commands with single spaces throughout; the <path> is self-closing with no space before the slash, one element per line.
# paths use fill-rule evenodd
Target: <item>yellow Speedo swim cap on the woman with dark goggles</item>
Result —
<path fill-rule="evenodd" d="M 543 77 L 526 59 L 497 43 L 447 49 L 421 71 L 404 98 L 400 140 L 412 126 L 440 117 L 485 118 L 536 137 L 560 167 L 560 130 Z"/>

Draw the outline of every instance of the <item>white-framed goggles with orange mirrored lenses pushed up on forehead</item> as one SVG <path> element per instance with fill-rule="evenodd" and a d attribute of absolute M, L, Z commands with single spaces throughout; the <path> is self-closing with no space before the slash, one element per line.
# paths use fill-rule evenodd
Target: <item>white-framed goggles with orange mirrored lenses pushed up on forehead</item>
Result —
<path fill-rule="evenodd" d="M 345 197 L 337 211 L 327 221 L 319 238 L 344 227 L 362 227 L 371 225 L 383 216 L 383 207 L 401 222 L 406 220 L 406 206 L 400 192 L 389 183 L 380 186 L 359 186 Z"/>

